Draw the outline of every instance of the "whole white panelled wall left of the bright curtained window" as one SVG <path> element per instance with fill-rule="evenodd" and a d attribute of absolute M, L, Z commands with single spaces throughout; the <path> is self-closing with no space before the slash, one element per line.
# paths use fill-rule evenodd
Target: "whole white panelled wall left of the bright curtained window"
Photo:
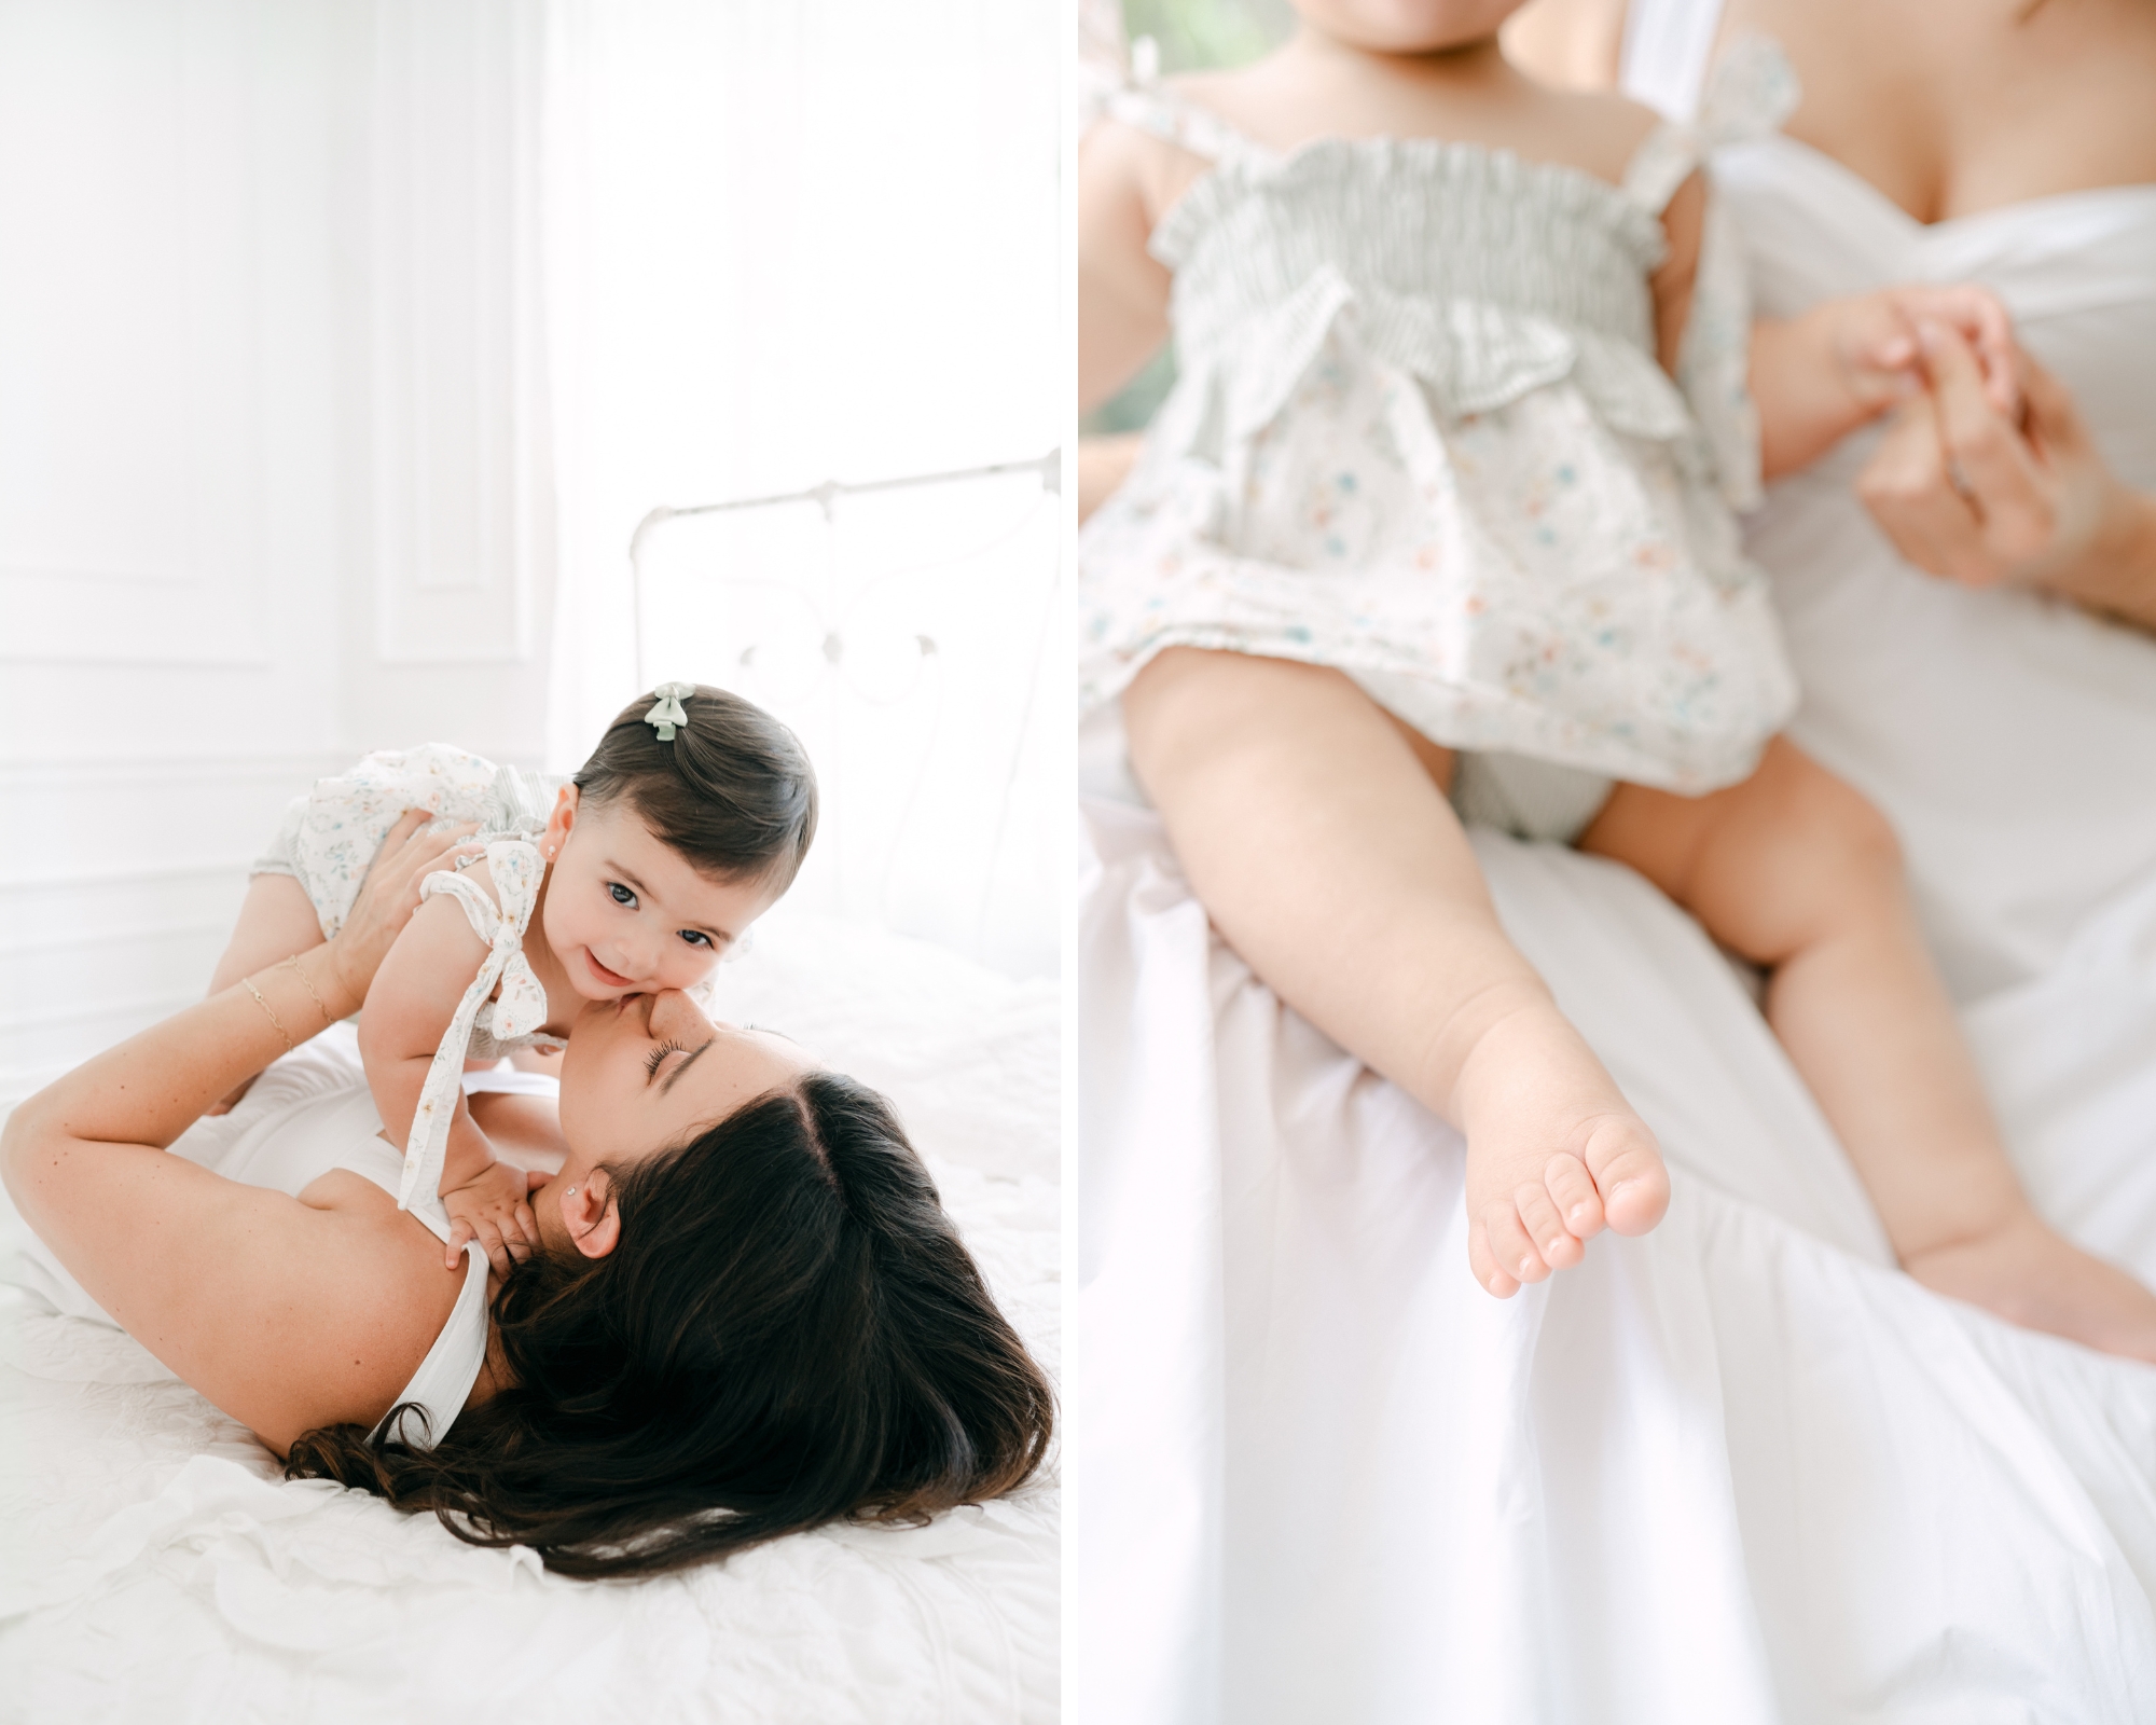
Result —
<path fill-rule="evenodd" d="M 541 13 L 0 0 L 0 1108 L 313 778 L 543 748 Z"/>

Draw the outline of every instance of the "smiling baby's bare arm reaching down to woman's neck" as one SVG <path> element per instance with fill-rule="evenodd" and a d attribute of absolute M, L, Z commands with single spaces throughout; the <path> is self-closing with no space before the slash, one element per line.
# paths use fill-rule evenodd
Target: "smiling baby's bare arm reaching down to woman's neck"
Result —
<path fill-rule="evenodd" d="M 470 873 L 483 891 L 492 891 L 485 867 L 481 862 Z M 464 908 L 442 895 L 420 903 L 375 972 L 360 1011 L 360 1059 L 375 1110 L 397 1145 L 412 1136 L 412 1117 L 418 1113 L 433 1052 L 485 955 L 487 944 L 472 932 Z M 455 1223 L 448 1238 L 451 1268 L 461 1257 L 464 1242 L 476 1238 L 496 1272 L 507 1274 L 511 1257 L 522 1257 L 539 1240 L 537 1220 L 524 1201 L 524 1171 L 496 1160 L 494 1145 L 479 1130 L 461 1091 L 448 1123 L 440 1195 Z"/>

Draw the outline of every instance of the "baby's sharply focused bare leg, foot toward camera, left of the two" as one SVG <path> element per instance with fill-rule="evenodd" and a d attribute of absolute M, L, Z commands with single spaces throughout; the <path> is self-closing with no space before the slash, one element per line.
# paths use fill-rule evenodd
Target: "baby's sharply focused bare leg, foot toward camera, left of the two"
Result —
<path fill-rule="evenodd" d="M 1190 884 L 1274 992 L 1460 1126 L 1468 1255 L 1494 1294 L 1643 1233 L 1669 1175 L 1505 940 L 1460 822 L 1337 671 L 1177 649 L 1123 696 L 1130 759 Z"/>

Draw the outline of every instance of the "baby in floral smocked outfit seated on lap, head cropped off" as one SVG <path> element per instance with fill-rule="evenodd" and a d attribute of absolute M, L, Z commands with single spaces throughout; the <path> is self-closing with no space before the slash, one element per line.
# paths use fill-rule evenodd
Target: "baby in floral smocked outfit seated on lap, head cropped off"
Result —
<path fill-rule="evenodd" d="M 1789 112 L 1779 50 L 1731 52 L 1695 132 L 1524 78 L 1518 4 L 1296 0 L 1270 58 L 1110 97 L 1080 399 L 1171 330 L 1181 375 L 1080 537 L 1084 701 L 1121 701 L 1227 940 L 1464 1132 L 1492 1294 L 1654 1227 L 1669 1177 L 1464 819 L 1630 865 L 1768 972 L 1912 1274 L 2156 1358 L 2156 1298 L 2022 1197 L 1893 834 L 1777 735 L 1796 688 L 1733 515 L 1932 343 L 2012 410 L 2007 319 L 1906 287 L 1753 326 L 1699 166 Z"/>

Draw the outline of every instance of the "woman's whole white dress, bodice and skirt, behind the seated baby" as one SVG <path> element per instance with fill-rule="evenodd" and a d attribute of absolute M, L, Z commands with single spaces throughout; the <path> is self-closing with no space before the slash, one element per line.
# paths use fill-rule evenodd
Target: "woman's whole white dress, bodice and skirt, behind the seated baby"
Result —
<path fill-rule="evenodd" d="M 1688 114 L 1714 11 L 1632 0 L 1632 88 Z M 1766 310 L 1975 274 L 2156 487 L 2156 188 L 1927 229 L 1787 138 L 1714 166 Z M 2156 643 L 1908 569 L 1858 459 L 1749 535 L 1794 733 L 1899 828 L 2037 1205 L 2156 1279 Z M 1212 936 L 1112 705 L 1087 759 L 1074 1725 L 2156 1719 L 2156 1371 L 1897 1274 L 1695 925 L 1475 834 L 1673 1173 L 1496 1302 L 1457 1136 Z"/>

